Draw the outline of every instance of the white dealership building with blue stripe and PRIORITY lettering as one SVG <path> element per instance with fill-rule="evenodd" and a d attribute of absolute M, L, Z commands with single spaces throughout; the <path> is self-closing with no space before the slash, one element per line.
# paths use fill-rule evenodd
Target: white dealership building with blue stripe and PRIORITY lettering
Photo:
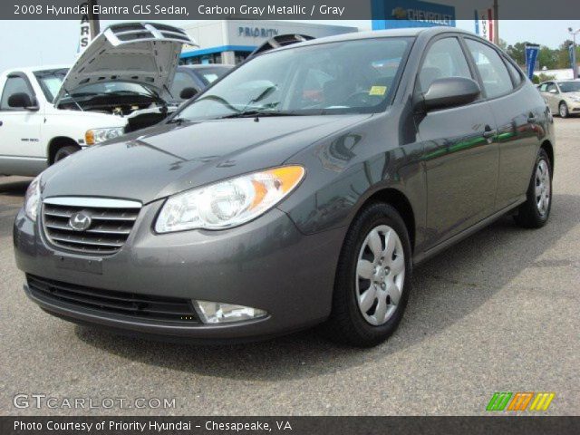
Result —
<path fill-rule="evenodd" d="M 305 34 L 320 38 L 358 32 L 356 27 L 285 21 L 220 20 L 186 24 L 182 28 L 199 47 L 184 47 L 181 63 L 237 64 L 256 47 L 279 34 Z"/>

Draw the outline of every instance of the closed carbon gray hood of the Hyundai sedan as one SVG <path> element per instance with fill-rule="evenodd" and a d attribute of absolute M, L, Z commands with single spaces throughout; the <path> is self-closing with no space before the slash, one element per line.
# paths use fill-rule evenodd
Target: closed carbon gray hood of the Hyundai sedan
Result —
<path fill-rule="evenodd" d="M 73 154 L 43 172 L 43 198 L 148 203 L 219 179 L 281 165 L 372 115 L 292 116 L 160 124 Z"/>

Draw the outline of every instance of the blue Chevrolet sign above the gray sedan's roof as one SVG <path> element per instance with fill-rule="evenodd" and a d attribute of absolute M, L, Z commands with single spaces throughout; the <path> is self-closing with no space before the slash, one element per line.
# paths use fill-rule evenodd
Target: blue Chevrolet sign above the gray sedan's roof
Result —
<path fill-rule="evenodd" d="M 455 27 L 455 7 L 420 0 L 371 0 L 372 30 Z"/>

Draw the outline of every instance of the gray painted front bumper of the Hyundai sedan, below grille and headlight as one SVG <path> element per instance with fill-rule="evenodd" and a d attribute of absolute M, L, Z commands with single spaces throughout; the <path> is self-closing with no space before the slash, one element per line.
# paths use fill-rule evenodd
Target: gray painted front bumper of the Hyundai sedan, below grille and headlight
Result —
<path fill-rule="evenodd" d="M 144 206 L 125 245 L 112 256 L 63 253 L 39 222 L 21 212 L 14 222 L 17 266 L 26 274 L 111 292 L 217 301 L 266 310 L 265 318 L 191 324 L 135 318 L 26 294 L 45 311 L 81 324 L 129 333 L 209 341 L 255 339 L 320 323 L 330 314 L 343 229 L 304 236 L 277 208 L 242 227 L 156 235 L 161 201 Z M 63 267 L 62 256 L 94 267 Z"/>

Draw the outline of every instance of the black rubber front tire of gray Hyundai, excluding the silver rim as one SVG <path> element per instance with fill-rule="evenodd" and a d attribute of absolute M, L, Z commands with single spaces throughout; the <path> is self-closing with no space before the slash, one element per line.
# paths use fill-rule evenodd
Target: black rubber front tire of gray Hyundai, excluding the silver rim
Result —
<path fill-rule="evenodd" d="M 404 284 L 395 311 L 386 323 L 368 323 L 359 309 L 356 295 L 356 267 L 359 253 L 373 228 L 386 225 L 399 236 L 404 253 Z M 399 323 L 411 292 L 411 241 L 401 215 L 388 204 L 373 203 L 363 208 L 354 219 L 344 239 L 334 281 L 332 313 L 323 325 L 326 335 L 337 343 L 356 347 L 372 347 L 384 342 Z"/>

